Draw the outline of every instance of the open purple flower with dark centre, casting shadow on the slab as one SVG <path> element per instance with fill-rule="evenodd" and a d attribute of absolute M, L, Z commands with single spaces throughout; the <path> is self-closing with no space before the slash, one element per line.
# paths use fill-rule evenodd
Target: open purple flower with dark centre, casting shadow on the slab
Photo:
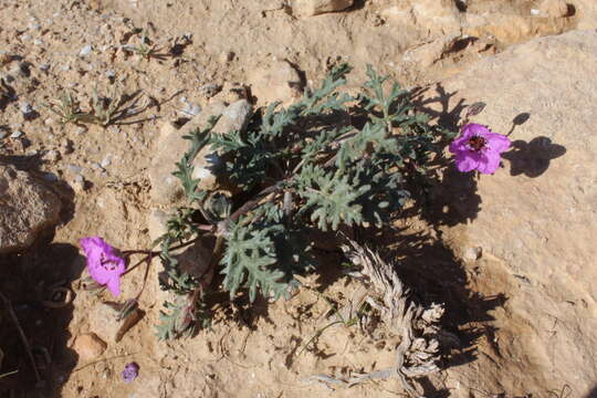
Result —
<path fill-rule="evenodd" d="M 510 148 L 507 137 L 474 123 L 464 125 L 460 136 L 450 144 L 457 168 L 462 172 L 471 170 L 479 170 L 482 174 L 495 172 L 500 167 L 500 156 L 507 148 Z"/>

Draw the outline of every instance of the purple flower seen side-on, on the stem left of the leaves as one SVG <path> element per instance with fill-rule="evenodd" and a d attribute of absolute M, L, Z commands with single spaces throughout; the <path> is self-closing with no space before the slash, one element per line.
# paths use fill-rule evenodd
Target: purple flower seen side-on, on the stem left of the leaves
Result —
<path fill-rule="evenodd" d="M 125 259 L 118 256 L 116 249 L 100 237 L 83 238 L 80 243 L 87 258 L 91 277 L 106 285 L 115 296 L 121 295 L 121 275 L 126 271 Z"/>

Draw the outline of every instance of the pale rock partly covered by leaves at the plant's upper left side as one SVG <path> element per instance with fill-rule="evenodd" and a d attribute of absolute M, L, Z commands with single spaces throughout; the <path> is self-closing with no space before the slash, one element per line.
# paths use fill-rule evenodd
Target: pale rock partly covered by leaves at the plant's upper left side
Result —
<path fill-rule="evenodd" d="M 163 125 L 158 139 L 156 139 L 156 155 L 149 167 L 151 181 L 151 199 L 158 206 L 170 206 L 182 200 L 182 187 L 172 172 L 176 164 L 189 148 L 189 142 L 182 136 L 189 135 L 196 128 L 205 128 L 211 116 L 221 117 L 213 132 L 227 134 L 234 129 L 243 129 L 251 117 L 251 105 L 248 101 L 238 101 L 228 107 L 222 103 L 210 103 L 198 116 L 189 121 L 180 130 L 166 123 Z M 212 190 L 224 176 L 217 171 L 221 159 L 213 154 L 210 147 L 199 151 L 193 160 L 196 178 L 201 177 L 199 185 L 202 189 Z M 223 184 L 223 181 L 222 181 Z"/>

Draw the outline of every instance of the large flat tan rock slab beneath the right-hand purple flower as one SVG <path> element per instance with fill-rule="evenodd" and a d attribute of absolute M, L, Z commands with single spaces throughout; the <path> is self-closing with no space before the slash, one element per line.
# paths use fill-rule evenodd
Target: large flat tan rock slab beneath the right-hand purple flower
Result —
<path fill-rule="evenodd" d="M 483 101 L 475 123 L 507 134 L 519 121 L 501 170 L 468 193 L 457 188 L 467 177 L 447 172 L 437 191 L 461 221 L 447 222 L 443 239 L 457 253 L 483 248 L 474 264 L 480 294 L 507 297 L 491 312 L 501 355 L 485 346 L 470 368 L 471 377 L 479 368 L 491 375 L 482 390 L 519 396 L 568 385 L 588 397 L 597 380 L 595 71 L 597 32 L 572 31 L 512 46 L 441 82 L 450 100 L 437 111 Z M 480 210 L 462 206 L 467 195 L 480 197 Z"/>

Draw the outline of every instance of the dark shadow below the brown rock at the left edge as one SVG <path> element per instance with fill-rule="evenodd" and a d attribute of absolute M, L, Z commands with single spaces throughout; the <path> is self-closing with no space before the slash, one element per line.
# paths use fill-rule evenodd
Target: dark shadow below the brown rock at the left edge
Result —
<path fill-rule="evenodd" d="M 57 398 L 69 379 L 77 355 L 67 346 L 73 317 L 72 281 L 84 269 L 78 249 L 62 243 L 39 244 L 19 254 L 0 256 L 0 290 L 11 302 L 34 357 L 38 380 L 14 324 L 2 306 L 0 348 L 4 359 L 0 374 L 0 397 Z M 66 292 L 70 293 L 66 293 Z"/>

